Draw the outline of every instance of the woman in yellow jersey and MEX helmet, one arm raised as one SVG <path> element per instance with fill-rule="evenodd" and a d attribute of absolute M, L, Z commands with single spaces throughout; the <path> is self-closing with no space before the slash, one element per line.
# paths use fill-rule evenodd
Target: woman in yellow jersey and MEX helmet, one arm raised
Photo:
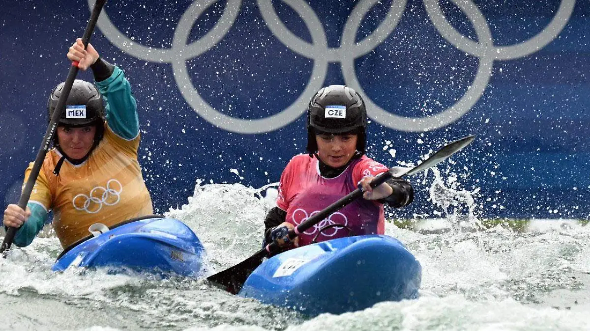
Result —
<path fill-rule="evenodd" d="M 27 210 L 11 204 L 4 211 L 4 226 L 19 227 L 17 246 L 31 243 L 50 210 L 63 247 L 88 236 L 91 224 L 111 227 L 153 213 L 137 163 L 137 106 L 123 71 L 101 58 L 92 45 L 84 49 L 81 39 L 67 57 L 78 61 L 82 70 L 91 68 L 96 85 L 74 81 Z M 57 85 L 49 97 L 50 118 L 54 111 L 62 111 L 55 107 L 63 85 Z M 32 166 L 25 171 L 25 183 Z"/>

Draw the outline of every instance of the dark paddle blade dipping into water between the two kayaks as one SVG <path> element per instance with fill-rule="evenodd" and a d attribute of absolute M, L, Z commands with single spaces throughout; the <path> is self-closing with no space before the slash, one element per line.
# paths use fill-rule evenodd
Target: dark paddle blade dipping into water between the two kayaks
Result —
<path fill-rule="evenodd" d="M 267 253 L 266 249 L 261 249 L 253 256 L 248 257 L 248 259 L 245 259 L 230 269 L 207 277 L 207 280 L 218 284 L 231 294 L 238 294 L 242 285 L 246 282 L 246 279 L 248 279 L 250 274 L 260 266 L 264 258 L 267 256 Z"/>

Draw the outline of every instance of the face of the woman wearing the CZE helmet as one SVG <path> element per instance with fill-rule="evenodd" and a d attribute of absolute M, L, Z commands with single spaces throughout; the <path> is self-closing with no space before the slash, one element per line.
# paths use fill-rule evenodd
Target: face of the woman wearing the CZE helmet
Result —
<path fill-rule="evenodd" d="M 316 134 L 317 156 L 333 168 L 345 166 L 355 155 L 356 134 Z"/>

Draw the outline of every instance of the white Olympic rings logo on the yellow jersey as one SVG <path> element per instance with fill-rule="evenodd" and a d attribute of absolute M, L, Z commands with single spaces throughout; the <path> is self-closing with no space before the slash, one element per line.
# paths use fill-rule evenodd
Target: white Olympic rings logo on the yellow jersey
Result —
<path fill-rule="evenodd" d="M 96 214 L 103 208 L 103 204 L 114 206 L 119 203 L 122 192 L 123 186 L 121 183 L 116 179 L 112 179 L 107 181 L 106 188 L 97 186 L 90 190 L 89 195 L 78 194 L 72 199 L 72 204 L 77 210 Z"/>

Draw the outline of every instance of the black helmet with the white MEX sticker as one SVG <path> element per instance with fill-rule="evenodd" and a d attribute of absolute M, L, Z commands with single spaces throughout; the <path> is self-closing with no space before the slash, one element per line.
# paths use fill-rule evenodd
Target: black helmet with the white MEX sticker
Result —
<path fill-rule="evenodd" d="M 48 121 L 51 121 L 51 115 L 57 107 L 57 101 L 60 100 L 61 90 L 65 83 L 60 83 L 51 91 L 47 101 Z M 65 102 L 65 110 L 61 112 L 58 125 L 67 127 L 85 127 L 87 125 L 96 125 L 96 135 L 94 136 L 95 144 L 103 138 L 104 134 L 104 104 L 103 97 L 99 90 L 87 81 L 75 80 Z M 57 134 L 54 135 L 54 145 L 58 144 Z"/>

